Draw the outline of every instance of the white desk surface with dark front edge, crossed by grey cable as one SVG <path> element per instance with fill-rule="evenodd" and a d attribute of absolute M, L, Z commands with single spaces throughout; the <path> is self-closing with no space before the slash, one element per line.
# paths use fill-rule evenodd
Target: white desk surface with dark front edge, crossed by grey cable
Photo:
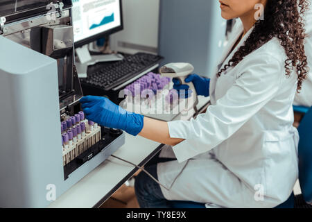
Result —
<path fill-rule="evenodd" d="M 197 108 L 200 110 L 208 103 L 209 98 L 200 96 L 198 100 Z M 179 119 L 179 116 L 176 119 Z M 133 137 L 127 134 L 125 135 L 125 144 L 114 155 L 143 166 L 161 150 L 162 146 L 163 144 L 143 137 Z M 51 203 L 49 207 L 99 207 L 136 171 L 137 169 L 132 165 L 110 157 Z"/>

